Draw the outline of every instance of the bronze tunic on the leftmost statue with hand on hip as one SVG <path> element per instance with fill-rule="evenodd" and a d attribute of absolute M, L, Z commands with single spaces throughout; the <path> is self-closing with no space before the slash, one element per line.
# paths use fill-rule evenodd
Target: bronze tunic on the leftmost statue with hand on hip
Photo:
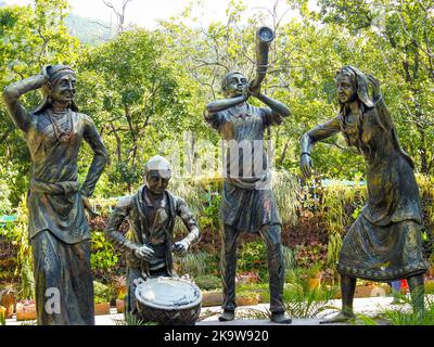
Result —
<path fill-rule="evenodd" d="M 33 160 L 29 189 L 29 236 L 49 230 L 67 244 L 90 239 L 80 193 L 90 196 L 104 168 L 105 160 L 92 163 L 91 170 L 79 189 L 77 158 L 86 139 L 93 151 L 106 156 L 105 147 L 92 119 L 71 112 L 73 133 L 60 142 L 47 113 L 30 115 L 31 126 L 25 133 Z M 80 192 L 79 192 L 80 190 Z"/>

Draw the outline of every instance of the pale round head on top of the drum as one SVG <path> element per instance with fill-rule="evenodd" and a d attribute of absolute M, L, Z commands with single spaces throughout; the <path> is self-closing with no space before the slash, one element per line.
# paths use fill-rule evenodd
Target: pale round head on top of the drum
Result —
<path fill-rule="evenodd" d="M 135 294 L 143 305 L 165 310 L 188 309 L 202 301 L 199 286 L 183 279 L 148 279 L 137 286 Z"/>

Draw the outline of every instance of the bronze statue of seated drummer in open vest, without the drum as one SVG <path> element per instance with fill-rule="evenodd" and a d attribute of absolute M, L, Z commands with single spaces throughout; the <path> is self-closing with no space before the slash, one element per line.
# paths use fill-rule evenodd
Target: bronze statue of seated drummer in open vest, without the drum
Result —
<path fill-rule="evenodd" d="M 171 252 L 183 256 L 199 240 L 197 222 L 186 202 L 166 191 L 171 170 L 162 156 L 152 157 L 145 165 L 145 184 L 129 196 L 123 196 L 110 216 L 105 236 L 127 253 L 126 314 L 137 316 L 135 291 L 139 279 L 175 277 Z M 179 216 L 189 234 L 174 242 L 174 227 Z M 131 240 L 118 229 L 127 219 Z"/>

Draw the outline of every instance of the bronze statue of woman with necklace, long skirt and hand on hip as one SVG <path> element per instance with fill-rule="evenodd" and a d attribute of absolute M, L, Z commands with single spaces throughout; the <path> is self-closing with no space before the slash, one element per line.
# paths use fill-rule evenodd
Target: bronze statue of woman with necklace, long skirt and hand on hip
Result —
<path fill-rule="evenodd" d="M 49 65 L 40 75 L 8 86 L 3 92 L 33 163 L 28 209 L 38 324 L 94 324 L 85 203 L 107 163 L 107 152 L 93 120 L 78 113 L 75 83 L 71 67 Z M 43 101 L 27 112 L 18 99 L 39 88 Z M 94 155 L 80 187 L 77 156 L 82 140 Z"/>

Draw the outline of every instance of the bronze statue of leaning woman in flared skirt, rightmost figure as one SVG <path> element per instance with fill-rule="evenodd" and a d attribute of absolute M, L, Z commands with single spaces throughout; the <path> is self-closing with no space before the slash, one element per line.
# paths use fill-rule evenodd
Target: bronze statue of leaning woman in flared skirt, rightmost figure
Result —
<path fill-rule="evenodd" d="M 368 94 L 368 80 L 372 99 Z M 336 74 L 340 114 L 302 138 L 301 169 L 310 176 L 310 151 L 318 141 L 340 131 L 366 162 L 368 202 L 348 230 L 340 252 L 342 311 L 324 322 L 354 317 L 356 279 L 391 282 L 407 279 L 413 308 L 424 310 L 427 267 L 422 255 L 422 211 L 413 162 L 401 149 L 397 131 L 380 93 L 380 82 L 354 66 Z"/>

